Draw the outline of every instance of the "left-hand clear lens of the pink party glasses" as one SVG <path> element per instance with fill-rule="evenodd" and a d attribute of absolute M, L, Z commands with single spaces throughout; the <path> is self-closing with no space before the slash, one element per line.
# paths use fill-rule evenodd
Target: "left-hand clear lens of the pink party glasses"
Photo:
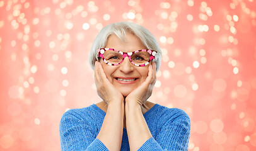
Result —
<path fill-rule="evenodd" d="M 115 52 L 113 50 L 107 50 L 103 55 L 104 59 L 110 64 L 118 64 L 123 59 L 123 56 L 119 52 Z"/>

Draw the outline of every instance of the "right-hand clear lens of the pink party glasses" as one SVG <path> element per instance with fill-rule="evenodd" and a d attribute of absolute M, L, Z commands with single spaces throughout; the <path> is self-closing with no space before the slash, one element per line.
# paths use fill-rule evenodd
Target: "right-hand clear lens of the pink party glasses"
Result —
<path fill-rule="evenodd" d="M 148 62 L 150 55 L 148 52 L 136 52 L 132 54 L 131 59 L 134 64 L 142 65 Z"/>

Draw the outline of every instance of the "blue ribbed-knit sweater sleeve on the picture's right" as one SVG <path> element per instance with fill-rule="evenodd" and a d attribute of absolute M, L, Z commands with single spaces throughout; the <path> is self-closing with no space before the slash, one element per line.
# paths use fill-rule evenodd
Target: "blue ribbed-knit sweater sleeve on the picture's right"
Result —
<path fill-rule="evenodd" d="M 188 150 L 189 147 L 189 135 L 190 119 L 189 116 L 183 112 L 182 115 L 177 116 L 175 119 L 168 118 L 156 134 L 156 138 L 149 138 L 138 151 L 185 151 Z"/>

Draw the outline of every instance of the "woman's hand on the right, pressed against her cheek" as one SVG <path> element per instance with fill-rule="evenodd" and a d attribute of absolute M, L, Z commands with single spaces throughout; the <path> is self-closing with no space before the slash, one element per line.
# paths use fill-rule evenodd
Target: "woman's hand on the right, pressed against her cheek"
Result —
<path fill-rule="evenodd" d="M 148 70 L 146 80 L 125 98 L 125 103 L 136 103 L 142 106 L 151 96 L 156 83 L 156 63 L 153 62 L 152 65 L 149 65 Z"/>

